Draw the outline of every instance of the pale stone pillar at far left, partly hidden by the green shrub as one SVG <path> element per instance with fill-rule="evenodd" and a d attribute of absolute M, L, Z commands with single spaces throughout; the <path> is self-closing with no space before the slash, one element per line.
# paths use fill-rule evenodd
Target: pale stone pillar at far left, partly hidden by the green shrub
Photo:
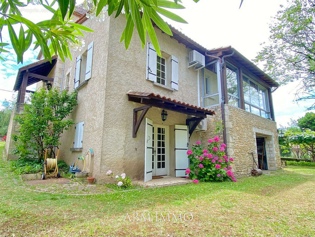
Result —
<path fill-rule="evenodd" d="M 14 118 L 23 112 L 24 112 L 24 103 L 16 103 L 11 113 L 8 133 L 7 133 L 7 140 L 5 142 L 5 152 L 7 154 L 8 160 L 16 160 L 18 158 L 16 155 L 12 154 L 12 150 L 15 149 L 12 135 L 18 133 L 18 130 L 20 128 L 19 123 L 16 122 Z"/>

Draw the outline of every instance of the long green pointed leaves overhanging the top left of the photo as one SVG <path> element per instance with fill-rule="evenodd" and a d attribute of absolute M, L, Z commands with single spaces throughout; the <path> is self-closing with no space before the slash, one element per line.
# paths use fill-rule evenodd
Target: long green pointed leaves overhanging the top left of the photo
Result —
<path fill-rule="evenodd" d="M 142 48 L 146 41 L 146 32 L 152 41 L 157 54 L 161 56 L 160 47 L 153 28 L 153 22 L 160 27 L 163 32 L 173 35 L 167 23 L 161 18 L 161 15 L 174 21 L 187 23 L 183 18 L 165 9 L 184 9 L 184 6 L 178 2 L 180 0 L 84 0 L 87 7 L 91 4 L 91 9 L 87 16 L 96 17 L 98 20 L 105 19 L 105 14 L 110 16 L 115 12 L 115 18 L 124 12 L 126 16 L 126 27 L 122 32 L 121 42 L 124 41 L 128 49 L 134 28 L 137 28 L 141 40 Z M 198 2 L 199 0 L 193 0 Z M 17 63 L 23 63 L 23 54 L 31 46 L 33 37 L 35 38 L 35 49 L 40 47 L 43 57 L 51 61 L 51 56 L 58 54 L 64 61 L 65 58 L 71 58 L 69 46 L 77 48 L 82 45 L 78 38 L 83 36 L 82 31 L 93 32 L 92 29 L 71 22 L 71 15 L 74 11 L 75 0 L 27 0 L 27 4 L 19 0 L 0 0 L 0 59 L 3 59 L 2 53 L 9 52 L 8 42 L 3 42 L 1 32 L 3 26 L 9 30 L 10 43 L 17 55 Z M 241 5 L 243 0 L 241 1 Z M 19 9 L 28 4 L 40 4 L 45 9 L 53 13 L 50 20 L 44 20 L 37 23 L 30 21 L 22 16 Z M 240 5 L 240 6 L 241 6 Z M 56 9 L 57 8 L 57 9 Z M 56 9 L 56 10 L 55 10 Z M 20 26 L 19 34 L 14 30 L 14 25 Z M 50 41 L 51 44 L 47 42 Z"/>

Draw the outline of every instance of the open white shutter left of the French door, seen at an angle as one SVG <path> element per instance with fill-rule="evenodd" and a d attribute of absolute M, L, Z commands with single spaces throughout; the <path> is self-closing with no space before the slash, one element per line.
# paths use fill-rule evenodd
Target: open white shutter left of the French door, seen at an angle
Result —
<path fill-rule="evenodd" d="M 152 120 L 146 118 L 146 141 L 145 141 L 145 160 L 144 160 L 144 181 L 150 181 L 152 179 L 152 131 L 153 122 Z"/>

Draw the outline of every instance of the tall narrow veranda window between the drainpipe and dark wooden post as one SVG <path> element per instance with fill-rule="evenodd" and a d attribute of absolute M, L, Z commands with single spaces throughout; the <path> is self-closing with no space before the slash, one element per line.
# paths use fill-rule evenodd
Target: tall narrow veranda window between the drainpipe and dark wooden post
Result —
<path fill-rule="evenodd" d="M 229 105 L 240 107 L 238 69 L 226 64 L 227 99 Z"/>

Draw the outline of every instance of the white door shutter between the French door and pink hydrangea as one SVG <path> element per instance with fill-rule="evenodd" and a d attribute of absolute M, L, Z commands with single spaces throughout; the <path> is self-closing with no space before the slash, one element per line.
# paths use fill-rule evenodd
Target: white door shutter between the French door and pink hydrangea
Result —
<path fill-rule="evenodd" d="M 175 177 L 187 176 L 189 166 L 187 150 L 189 148 L 188 126 L 175 125 Z"/>

